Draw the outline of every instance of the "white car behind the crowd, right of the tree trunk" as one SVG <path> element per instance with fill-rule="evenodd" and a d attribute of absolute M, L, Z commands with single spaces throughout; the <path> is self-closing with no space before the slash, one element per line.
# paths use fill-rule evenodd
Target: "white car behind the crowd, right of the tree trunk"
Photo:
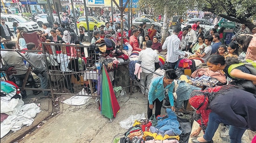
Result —
<path fill-rule="evenodd" d="M 195 21 L 200 22 L 200 27 L 203 27 L 205 31 L 209 31 L 211 28 L 214 28 L 214 24 L 210 23 L 206 19 L 198 19 L 198 18 L 193 18 L 193 19 L 186 19 L 182 22 L 182 28 L 187 26 L 187 25 L 193 25 Z"/>

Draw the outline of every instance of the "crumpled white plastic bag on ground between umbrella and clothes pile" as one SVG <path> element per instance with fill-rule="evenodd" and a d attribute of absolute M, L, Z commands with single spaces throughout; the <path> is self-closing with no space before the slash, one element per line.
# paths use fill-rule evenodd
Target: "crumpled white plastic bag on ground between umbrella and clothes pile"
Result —
<path fill-rule="evenodd" d="M 130 127 L 133 126 L 135 120 L 139 120 L 140 121 L 143 118 L 145 118 L 144 113 L 137 114 L 137 115 L 131 115 L 127 119 L 119 122 L 119 125 L 121 126 L 121 128 L 129 129 Z"/>

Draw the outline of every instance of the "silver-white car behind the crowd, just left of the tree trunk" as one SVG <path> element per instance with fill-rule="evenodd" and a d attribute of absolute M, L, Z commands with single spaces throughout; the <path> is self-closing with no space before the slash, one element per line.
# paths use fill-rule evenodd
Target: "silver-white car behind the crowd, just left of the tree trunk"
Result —
<path fill-rule="evenodd" d="M 138 27 L 138 25 L 143 22 L 147 23 L 146 30 L 149 29 L 151 27 L 151 25 L 153 25 L 153 24 L 155 25 L 155 29 L 157 29 L 157 30 L 161 30 L 161 28 L 162 28 L 162 23 L 155 22 L 154 20 L 147 19 L 147 18 L 136 18 L 133 20 L 132 24 Z"/>

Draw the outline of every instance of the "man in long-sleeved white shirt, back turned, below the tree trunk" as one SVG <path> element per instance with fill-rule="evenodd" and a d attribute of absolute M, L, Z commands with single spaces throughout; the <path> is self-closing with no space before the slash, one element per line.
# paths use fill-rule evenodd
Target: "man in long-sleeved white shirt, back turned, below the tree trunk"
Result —
<path fill-rule="evenodd" d="M 188 56 L 185 52 L 179 50 L 181 40 L 178 38 L 178 34 L 180 31 L 180 28 L 175 28 L 173 35 L 168 36 L 162 45 L 162 50 L 167 49 L 167 61 L 172 69 L 175 68 L 179 56 Z"/>

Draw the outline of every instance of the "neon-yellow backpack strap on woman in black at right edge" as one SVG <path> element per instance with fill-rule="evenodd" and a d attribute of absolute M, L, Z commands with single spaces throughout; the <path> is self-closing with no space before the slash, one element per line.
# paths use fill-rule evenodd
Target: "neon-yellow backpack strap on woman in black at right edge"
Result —
<path fill-rule="evenodd" d="M 252 61 L 252 60 L 249 60 L 249 59 L 245 59 L 245 60 L 242 60 L 240 63 L 235 63 L 235 64 L 232 64 L 229 66 L 228 68 L 228 73 L 230 75 L 230 72 L 234 69 L 234 68 L 237 68 L 239 66 L 245 66 L 246 68 L 249 69 L 250 73 L 252 75 L 256 75 L 256 62 Z M 231 76 L 231 75 L 230 75 Z M 233 76 L 231 76 L 233 77 Z M 235 77 L 233 77 L 235 78 Z"/>

